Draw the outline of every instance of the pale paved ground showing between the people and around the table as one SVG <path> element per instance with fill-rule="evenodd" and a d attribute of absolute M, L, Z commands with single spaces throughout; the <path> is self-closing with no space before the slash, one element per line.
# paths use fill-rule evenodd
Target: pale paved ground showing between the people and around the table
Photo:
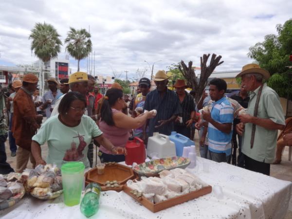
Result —
<path fill-rule="evenodd" d="M 196 145 L 198 145 L 197 132 L 196 132 L 195 138 L 196 138 L 196 141 L 195 141 Z M 7 153 L 7 162 L 11 165 L 12 168 L 15 169 L 16 157 L 11 157 L 8 140 L 6 141 L 5 145 L 6 145 L 6 153 Z M 41 149 L 42 149 L 42 156 L 44 159 L 46 159 L 48 155 L 48 146 L 47 145 L 41 146 Z M 281 180 L 292 181 L 292 161 L 288 161 L 288 150 L 289 150 L 288 147 L 286 147 L 283 152 L 281 164 L 271 165 L 271 176 L 277 179 L 281 179 Z M 198 148 L 197 148 L 197 154 L 200 154 Z M 94 151 L 94 157 L 95 157 L 95 151 Z M 31 164 L 29 162 L 28 168 L 30 167 L 31 167 Z M 292 219 L 292 198 L 290 199 L 289 208 L 288 208 L 288 212 L 286 214 L 285 219 Z"/>

